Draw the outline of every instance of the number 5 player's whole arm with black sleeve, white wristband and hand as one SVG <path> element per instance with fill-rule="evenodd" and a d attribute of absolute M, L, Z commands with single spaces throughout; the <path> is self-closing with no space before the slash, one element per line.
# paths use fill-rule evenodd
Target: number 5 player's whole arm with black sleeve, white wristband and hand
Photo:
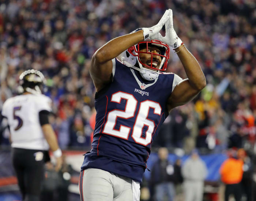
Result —
<path fill-rule="evenodd" d="M 53 131 L 52 125 L 49 123 L 48 119 L 49 111 L 42 110 L 39 112 L 39 122 L 42 127 L 42 131 L 44 133 L 45 139 L 49 144 L 50 150 L 52 150 L 54 157 L 56 158 L 56 171 L 61 168 L 62 159 L 61 159 L 61 150 L 58 145 L 58 141 L 56 135 Z"/>

